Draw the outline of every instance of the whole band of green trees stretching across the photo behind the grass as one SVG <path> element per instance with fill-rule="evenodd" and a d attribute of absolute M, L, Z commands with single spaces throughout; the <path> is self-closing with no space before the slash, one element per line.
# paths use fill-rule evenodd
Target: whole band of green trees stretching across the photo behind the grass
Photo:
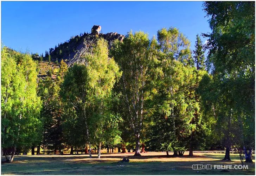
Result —
<path fill-rule="evenodd" d="M 177 28 L 149 39 L 129 32 L 108 49 L 98 39 L 85 64 L 62 60 L 38 79 L 31 54 L 1 50 L 1 148 L 61 154 L 88 146 L 148 151 L 255 148 L 255 2 L 204 2 L 211 33 L 195 50 Z M 200 27 L 200 26 L 199 26 Z M 205 50 L 207 57 L 205 58 Z M 63 58 L 65 59 L 65 58 Z M 50 63 L 50 59 L 49 59 Z M 143 155 L 143 154 L 142 154 Z"/>

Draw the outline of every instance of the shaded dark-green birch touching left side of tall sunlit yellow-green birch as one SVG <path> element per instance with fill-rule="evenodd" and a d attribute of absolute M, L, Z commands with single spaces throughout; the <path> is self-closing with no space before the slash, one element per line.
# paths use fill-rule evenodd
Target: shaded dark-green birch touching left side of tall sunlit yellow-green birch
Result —
<path fill-rule="evenodd" d="M 70 67 L 67 74 L 64 77 L 64 82 L 61 87 L 61 96 L 66 104 L 66 113 L 64 123 L 73 124 L 65 129 L 65 131 L 81 131 L 80 134 L 75 135 L 69 142 L 70 145 L 75 144 L 78 140 L 76 137 L 83 137 L 83 144 L 89 144 L 89 154 L 91 157 L 91 142 L 89 141 L 89 122 L 91 117 L 91 110 L 89 107 L 88 99 L 88 70 L 85 65 L 73 65 Z M 72 116 L 71 116 L 72 115 Z M 74 128 L 72 128 L 74 127 Z M 76 129 L 74 131 L 74 129 Z M 79 140 L 80 141 L 80 140 Z M 77 143 L 78 145 L 78 143 Z"/>

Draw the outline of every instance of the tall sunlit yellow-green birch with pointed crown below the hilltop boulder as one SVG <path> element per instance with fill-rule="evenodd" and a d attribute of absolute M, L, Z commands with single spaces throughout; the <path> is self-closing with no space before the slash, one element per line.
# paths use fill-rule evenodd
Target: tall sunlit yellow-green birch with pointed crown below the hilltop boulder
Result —
<path fill-rule="evenodd" d="M 120 120 L 118 116 L 111 112 L 111 100 L 113 100 L 111 94 L 115 82 L 121 76 L 121 72 L 114 59 L 108 58 L 108 43 L 104 39 L 97 41 L 92 53 L 87 55 L 86 58 L 88 60 L 88 73 L 90 73 L 88 76 L 89 93 L 94 107 L 93 117 L 96 118 L 95 124 L 97 124 L 93 128 L 96 129 L 95 136 L 99 141 L 98 158 L 100 158 L 103 140 L 109 141 L 109 135 L 112 136 L 111 138 L 117 137 L 118 139 L 118 123 L 116 121 Z M 105 129 L 103 129 L 104 127 Z"/>

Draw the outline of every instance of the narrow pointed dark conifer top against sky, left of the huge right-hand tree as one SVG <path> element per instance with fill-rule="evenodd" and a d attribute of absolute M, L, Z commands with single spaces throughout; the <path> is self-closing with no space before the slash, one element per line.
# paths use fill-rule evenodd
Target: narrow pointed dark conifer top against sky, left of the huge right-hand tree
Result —
<path fill-rule="evenodd" d="M 205 68 L 205 65 L 204 65 L 205 57 L 204 57 L 203 43 L 198 34 L 197 34 L 197 41 L 196 41 L 195 47 L 196 49 L 193 50 L 194 63 L 196 64 L 197 70 L 202 70 Z"/>

